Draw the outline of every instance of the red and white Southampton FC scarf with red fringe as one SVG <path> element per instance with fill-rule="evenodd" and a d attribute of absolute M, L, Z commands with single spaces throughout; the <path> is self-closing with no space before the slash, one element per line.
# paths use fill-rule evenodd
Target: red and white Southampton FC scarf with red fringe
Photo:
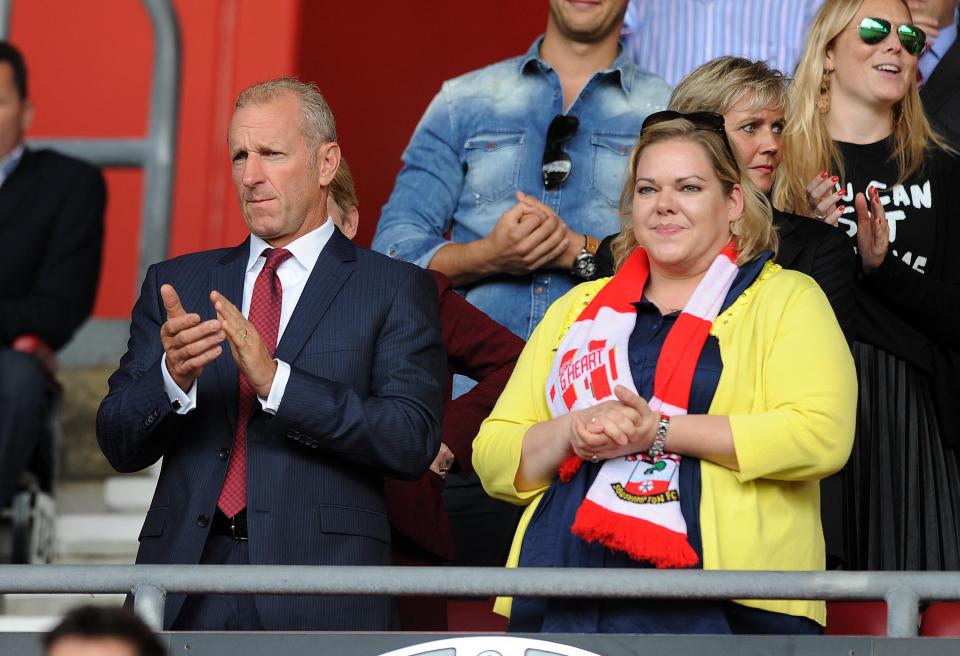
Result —
<path fill-rule="evenodd" d="M 667 334 L 653 379 L 650 408 L 668 416 L 687 414 L 693 374 L 713 321 L 737 275 L 737 249 L 730 242 L 710 265 Z M 547 379 L 547 404 L 554 417 L 615 400 L 617 385 L 636 392 L 628 342 L 637 321 L 633 302 L 647 283 L 643 248 L 583 310 L 564 336 Z M 607 460 L 577 511 L 572 530 L 588 542 L 656 567 L 692 567 L 697 554 L 687 542 L 678 487 L 681 457 L 637 453 Z M 573 456 L 560 467 L 569 481 L 583 461 Z"/>

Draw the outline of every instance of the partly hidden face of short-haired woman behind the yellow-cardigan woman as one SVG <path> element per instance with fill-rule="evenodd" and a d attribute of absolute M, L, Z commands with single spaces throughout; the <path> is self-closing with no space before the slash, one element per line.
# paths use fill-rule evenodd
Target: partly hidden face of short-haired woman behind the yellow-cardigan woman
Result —
<path fill-rule="evenodd" d="M 757 109 L 750 94 L 724 113 L 723 122 L 750 180 L 763 193 L 770 193 L 773 174 L 783 160 L 783 109 Z"/>

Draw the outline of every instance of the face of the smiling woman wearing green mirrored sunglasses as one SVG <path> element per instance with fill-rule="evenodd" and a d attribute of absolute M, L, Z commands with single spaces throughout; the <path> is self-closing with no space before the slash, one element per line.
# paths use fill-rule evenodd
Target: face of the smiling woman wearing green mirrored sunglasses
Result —
<path fill-rule="evenodd" d="M 880 43 L 860 39 L 860 21 L 867 17 L 890 22 L 890 34 Z M 916 80 L 917 58 L 904 50 L 897 27 L 909 22 L 910 12 L 900 0 L 864 0 L 823 58 L 831 72 L 831 108 L 844 103 L 892 108 L 907 95 Z"/>

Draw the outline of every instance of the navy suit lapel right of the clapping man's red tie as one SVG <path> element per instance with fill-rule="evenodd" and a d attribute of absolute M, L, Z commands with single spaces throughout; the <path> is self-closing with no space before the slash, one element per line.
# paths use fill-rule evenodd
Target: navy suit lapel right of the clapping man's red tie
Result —
<path fill-rule="evenodd" d="M 290 363 L 300 354 L 330 303 L 353 274 L 355 260 L 353 244 L 339 229 L 334 229 L 277 344 L 275 355 L 278 360 Z"/>

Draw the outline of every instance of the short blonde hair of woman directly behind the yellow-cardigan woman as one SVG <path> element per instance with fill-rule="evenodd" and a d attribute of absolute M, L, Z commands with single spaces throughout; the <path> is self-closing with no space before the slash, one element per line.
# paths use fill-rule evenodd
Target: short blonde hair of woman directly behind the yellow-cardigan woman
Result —
<path fill-rule="evenodd" d="M 717 57 L 693 69 L 670 94 L 667 109 L 675 112 L 726 114 L 749 97 L 750 109 L 782 110 L 787 104 L 783 73 L 766 62 L 743 57 Z"/>

